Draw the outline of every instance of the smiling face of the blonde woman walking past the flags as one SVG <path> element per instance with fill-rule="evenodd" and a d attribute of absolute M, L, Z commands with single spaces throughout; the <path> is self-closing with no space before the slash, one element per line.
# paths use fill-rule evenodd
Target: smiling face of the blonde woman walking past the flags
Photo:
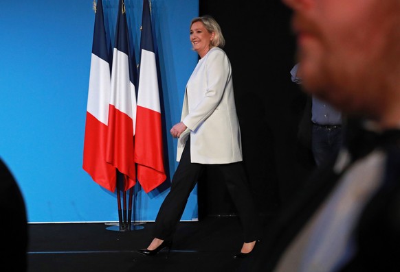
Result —
<path fill-rule="evenodd" d="M 205 29 L 203 23 L 195 22 L 190 27 L 190 42 L 200 58 L 210 50 L 210 42 L 214 38 L 214 32 L 210 33 Z"/>

